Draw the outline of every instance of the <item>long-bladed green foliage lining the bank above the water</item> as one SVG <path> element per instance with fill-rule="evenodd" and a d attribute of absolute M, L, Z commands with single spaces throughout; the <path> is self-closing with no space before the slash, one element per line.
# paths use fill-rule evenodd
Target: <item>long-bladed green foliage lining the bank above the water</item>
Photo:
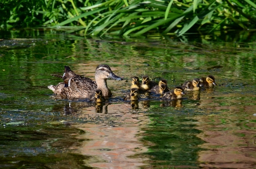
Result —
<path fill-rule="evenodd" d="M 250 0 L 9 0 L 0 5 L 3 28 L 82 26 L 84 34 L 100 36 L 151 31 L 181 36 L 195 29 L 255 28 L 256 23 L 256 5 Z"/>

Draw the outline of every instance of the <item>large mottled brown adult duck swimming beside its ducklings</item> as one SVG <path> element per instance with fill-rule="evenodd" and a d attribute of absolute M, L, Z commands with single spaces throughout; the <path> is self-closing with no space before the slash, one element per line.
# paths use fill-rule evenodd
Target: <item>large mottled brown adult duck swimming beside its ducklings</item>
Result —
<path fill-rule="evenodd" d="M 95 70 L 95 81 L 88 77 L 74 76 L 69 79 L 69 86 L 63 87 L 60 93 L 54 91 L 56 86 L 50 85 L 48 88 L 53 90 L 53 93 L 61 94 L 63 98 L 92 98 L 97 89 L 101 90 L 104 98 L 109 98 L 112 93 L 106 83 L 107 79 L 122 80 L 108 65 L 100 64 Z"/>

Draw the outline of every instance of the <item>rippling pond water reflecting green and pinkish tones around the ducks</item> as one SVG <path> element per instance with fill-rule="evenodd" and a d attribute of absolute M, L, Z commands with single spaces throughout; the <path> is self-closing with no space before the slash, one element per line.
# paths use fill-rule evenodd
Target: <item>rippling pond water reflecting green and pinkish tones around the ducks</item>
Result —
<path fill-rule="evenodd" d="M 1 32 L 1 168 L 255 168 L 256 34 L 84 38 L 54 30 Z M 108 64 L 113 97 L 57 99 L 65 65 L 94 79 Z M 169 88 L 214 75 L 180 101 L 122 101 L 131 76 Z"/>

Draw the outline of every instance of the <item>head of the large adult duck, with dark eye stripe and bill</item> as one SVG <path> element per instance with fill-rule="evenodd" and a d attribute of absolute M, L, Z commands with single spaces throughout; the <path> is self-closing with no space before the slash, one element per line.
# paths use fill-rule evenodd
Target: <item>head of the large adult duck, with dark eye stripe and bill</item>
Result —
<path fill-rule="evenodd" d="M 100 78 L 100 79 L 114 79 L 114 80 L 123 80 L 121 77 L 115 75 L 111 68 L 106 65 L 106 64 L 100 64 L 99 66 L 96 67 L 95 71 L 95 79 Z"/>

